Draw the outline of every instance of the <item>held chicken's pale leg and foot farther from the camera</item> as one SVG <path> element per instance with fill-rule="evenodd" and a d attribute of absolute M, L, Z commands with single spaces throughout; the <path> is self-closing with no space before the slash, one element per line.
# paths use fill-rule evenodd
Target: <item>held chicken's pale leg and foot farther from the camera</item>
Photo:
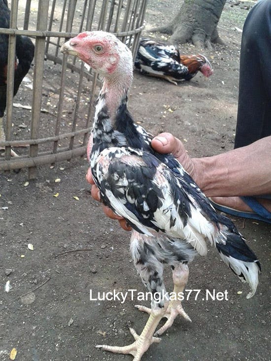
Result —
<path fill-rule="evenodd" d="M 178 263 L 175 266 L 172 266 L 172 278 L 174 283 L 174 289 L 172 294 L 170 295 L 170 302 L 167 311 L 165 312 L 163 317 L 166 317 L 168 321 L 165 323 L 164 326 L 159 328 L 155 332 L 155 335 L 161 335 L 164 333 L 170 326 L 172 326 L 175 318 L 177 315 L 183 316 L 187 321 L 191 322 L 190 317 L 184 311 L 181 301 L 178 299 L 180 298 L 179 295 L 183 292 L 187 281 L 188 281 L 189 269 L 187 264 Z M 175 296 L 174 296 L 175 294 Z M 135 305 L 139 311 L 147 312 L 151 314 L 151 309 L 145 306 Z"/>

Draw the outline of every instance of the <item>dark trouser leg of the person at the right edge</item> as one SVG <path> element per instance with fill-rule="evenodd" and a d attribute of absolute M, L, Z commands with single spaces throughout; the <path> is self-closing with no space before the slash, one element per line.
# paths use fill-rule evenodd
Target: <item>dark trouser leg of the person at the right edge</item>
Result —
<path fill-rule="evenodd" d="M 271 135 L 271 1 L 260 0 L 243 27 L 235 148 Z"/>

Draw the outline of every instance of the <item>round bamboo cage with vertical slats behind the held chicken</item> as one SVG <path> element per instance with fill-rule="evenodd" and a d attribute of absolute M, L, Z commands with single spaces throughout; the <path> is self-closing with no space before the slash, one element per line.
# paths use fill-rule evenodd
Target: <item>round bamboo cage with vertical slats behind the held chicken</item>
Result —
<path fill-rule="evenodd" d="M 0 28 L 9 35 L 0 170 L 28 168 L 32 179 L 37 166 L 85 154 L 101 82 L 80 60 L 63 56 L 60 47 L 83 31 L 104 30 L 126 42 L 135 56 L 146 4 L 147 0 L 9 1 L 10 28 Z M 13 99 L 17 34 L 31 37 L 35 55 L 34 66 Z M 11 147 L 25 145 L 16 148 L 18 157 L 11 157 Z"/>

